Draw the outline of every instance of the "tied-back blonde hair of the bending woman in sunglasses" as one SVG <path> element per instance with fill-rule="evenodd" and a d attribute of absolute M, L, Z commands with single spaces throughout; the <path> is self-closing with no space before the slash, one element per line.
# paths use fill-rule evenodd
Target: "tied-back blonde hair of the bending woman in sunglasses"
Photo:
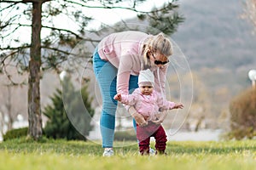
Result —
<path fill-rule="evenodd" d="M 143 45 L 143 69 L 150 68 L 148 52 L 164 54 L 168 58 L 172 55 L 172 42 L 162 33 L 148 37 Z"/>

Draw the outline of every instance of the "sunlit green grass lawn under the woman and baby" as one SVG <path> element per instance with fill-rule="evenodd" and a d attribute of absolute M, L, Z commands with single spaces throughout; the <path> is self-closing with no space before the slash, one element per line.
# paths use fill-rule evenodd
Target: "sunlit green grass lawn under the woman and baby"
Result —
<path fill-rule="evenodd" d="M 91 141 L 9 140 L 0 144 L 0 169 L 256 169 L 255 140 L 168 142 L 167 156 L 139 156 L 135 142 L 115 144 L 115 156 L 102 157 Z"/>

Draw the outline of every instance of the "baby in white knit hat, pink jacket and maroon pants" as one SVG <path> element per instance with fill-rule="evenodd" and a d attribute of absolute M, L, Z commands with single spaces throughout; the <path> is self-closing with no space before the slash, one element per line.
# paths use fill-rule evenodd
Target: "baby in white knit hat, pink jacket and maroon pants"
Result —
<path fill-rule="evenodd" d="M 166 150 L 166 132 L 160 124 L 155 124 L 159 111 L 183 109 L 183 104 L 167 101 L 159 93 L 154 91 L 154 75 L 148 69 L 140 71 L 138 77 L 139 88 L 132 94 L 116 94 L 113 99 L 125 105 L 133 105 L 139 114 L 142 114 L 148 125 L 140 127 L 137 125 L 137 139 L 141 155 L 149 154 L 150 137 L 155 139 L 156 154 L 164 154 Z"/>

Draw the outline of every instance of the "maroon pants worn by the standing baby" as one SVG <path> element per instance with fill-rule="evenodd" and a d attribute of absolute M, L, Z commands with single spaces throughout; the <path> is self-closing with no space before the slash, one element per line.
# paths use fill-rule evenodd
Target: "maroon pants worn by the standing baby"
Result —
<path fill-rule="evenodd" d="M 166 132 L 161 125 L 148 122 L 146 127 L 137 125 L 137 139 L 139 140 L 139 150 L 142 155 L 149 154 L 150 137 L 155 139 L 155 150 L 166 150 Z"/>

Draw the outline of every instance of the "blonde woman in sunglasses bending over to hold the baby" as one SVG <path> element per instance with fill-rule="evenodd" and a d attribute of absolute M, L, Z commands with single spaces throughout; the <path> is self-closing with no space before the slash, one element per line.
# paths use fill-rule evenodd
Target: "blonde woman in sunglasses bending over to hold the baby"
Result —
<path fill-rule="evenodd" d="M 102 94 L 101 133 L 103 156 L 113 156 L 113 134 L 117 101 L 113 96 L 131 94 L 138 88 L 139 71 L 154 72 L 155 90 L 165 94 L 166 71 L 172 43 L 162 34 L 123 31 L 102 39 L 93 54 L 93 68 Z M 147 125 L 132 106 L 125 106 L 139 126 Z"/>

